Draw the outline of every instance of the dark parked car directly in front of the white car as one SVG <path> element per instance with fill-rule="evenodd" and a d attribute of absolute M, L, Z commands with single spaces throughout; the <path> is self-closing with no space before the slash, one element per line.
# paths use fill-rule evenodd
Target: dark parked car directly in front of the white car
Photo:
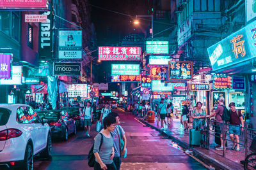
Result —
<path fill-rule="evenodd" d="M 47 122 L 52 131 L 53 138 L 68 140 L 68 135 L 76 134 L 76 123 L 65 110 L 38 111 L 38 115 Z"/>

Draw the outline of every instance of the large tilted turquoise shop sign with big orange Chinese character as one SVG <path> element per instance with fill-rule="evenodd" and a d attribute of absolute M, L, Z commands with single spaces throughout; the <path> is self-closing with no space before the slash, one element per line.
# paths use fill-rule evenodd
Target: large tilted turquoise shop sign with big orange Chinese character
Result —
<path fill-rule="evenodd" d="M 214 71 L 256 57 L 256 21 L 207 50 Z"/>

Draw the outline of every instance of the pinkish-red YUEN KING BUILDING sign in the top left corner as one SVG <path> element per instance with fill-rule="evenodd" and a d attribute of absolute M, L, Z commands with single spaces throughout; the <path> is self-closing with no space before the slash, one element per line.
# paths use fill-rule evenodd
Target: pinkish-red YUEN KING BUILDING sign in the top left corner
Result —
<path fill-rule="evenodd" d="M 0 9 L 46 9 L 47 0 L 0 0 Z"/>

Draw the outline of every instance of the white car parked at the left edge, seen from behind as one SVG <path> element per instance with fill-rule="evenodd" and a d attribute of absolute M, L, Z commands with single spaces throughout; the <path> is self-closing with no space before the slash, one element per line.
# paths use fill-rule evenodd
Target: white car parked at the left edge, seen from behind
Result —
<path fill-rule="evenodd" d="M 0 169 L 33 169 L 33 157 L 51 157 L 51 128 L 31 106 L 0 104 Z"/>

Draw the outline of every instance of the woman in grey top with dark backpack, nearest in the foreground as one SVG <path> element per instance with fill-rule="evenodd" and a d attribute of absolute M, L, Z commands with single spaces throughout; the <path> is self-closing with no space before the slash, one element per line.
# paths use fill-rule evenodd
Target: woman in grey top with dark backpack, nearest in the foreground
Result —
<path fill-rule="evenodd" d="M 107 116 L 103 120 L 104 129 L 97 134 L 94 140 L 93 153 L 95 155 L 94 170 L 108 169 L 116 170 L 113 158 L 115 157 L 115 148 L 111 132 L 115 130 L 116 119 Z M 102 145 L 100 141 L 103 139 Z"/>

